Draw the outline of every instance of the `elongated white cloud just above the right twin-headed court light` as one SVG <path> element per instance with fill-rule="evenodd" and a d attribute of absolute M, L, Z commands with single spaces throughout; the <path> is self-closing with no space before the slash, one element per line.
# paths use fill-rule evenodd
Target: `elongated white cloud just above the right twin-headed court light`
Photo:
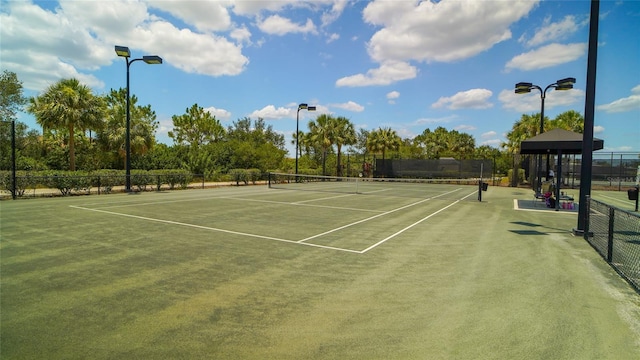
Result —
<path fill-rule="evenodd" d="M 506 71 L 513 69 L 531 71 L 544 69 L 575 61 L 587 52 L 586 43 L 550 44 L 527 53 L 522 53 L 509 60 Z"/>

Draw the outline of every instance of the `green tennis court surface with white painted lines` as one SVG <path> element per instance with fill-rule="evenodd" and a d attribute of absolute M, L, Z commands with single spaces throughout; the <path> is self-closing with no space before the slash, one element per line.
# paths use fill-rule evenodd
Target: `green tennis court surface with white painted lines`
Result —
<path fill-rule="evenodd" d="M 360 190 L 3 201 L 1 356 L 640 357 L 640 297 L 574 213 L 516 211 L 512 188 Z"/>

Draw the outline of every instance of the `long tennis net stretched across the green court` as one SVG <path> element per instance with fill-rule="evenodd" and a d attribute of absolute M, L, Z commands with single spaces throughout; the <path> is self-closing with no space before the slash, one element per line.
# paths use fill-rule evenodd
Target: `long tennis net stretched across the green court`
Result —
<path fill-rule="evenodd" d="M 480 179 L 390 179 L 269 173 L 269 188 L 414 198 L 461 198 Z"/>

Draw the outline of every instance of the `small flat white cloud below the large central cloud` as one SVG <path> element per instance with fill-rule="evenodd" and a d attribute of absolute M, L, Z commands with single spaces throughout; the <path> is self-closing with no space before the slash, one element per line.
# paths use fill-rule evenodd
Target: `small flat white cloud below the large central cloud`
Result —
<path fill-rule="evenodd" d="M 366 74 L 357 74 L 340 78 L 336 81 L 337 87 L 389 85 L 396 81 L 413 79 L 417 76 L 418 69 L 406 62 L 388 61 L 377 69 L 371 69 Z"/>

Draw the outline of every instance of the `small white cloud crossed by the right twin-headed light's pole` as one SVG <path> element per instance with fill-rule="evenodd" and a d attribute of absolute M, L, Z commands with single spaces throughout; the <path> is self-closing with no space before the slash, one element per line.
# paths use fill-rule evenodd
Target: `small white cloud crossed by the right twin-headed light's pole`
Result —
<path fill-rule="evenodd" d="M 584 96 L 584 91 L 580 89 L 550 91 L 547 92 L 545 97 L 545 109 L 581 103 L 584 102 Z M 540 92 L 537 90 L 529 94 L 516 94 L 513 90 L 502 90 L 498 95 L 498 100 L 500 100 L 504 109 L 522 113 L 540 112 L 542 105 Z"/>

